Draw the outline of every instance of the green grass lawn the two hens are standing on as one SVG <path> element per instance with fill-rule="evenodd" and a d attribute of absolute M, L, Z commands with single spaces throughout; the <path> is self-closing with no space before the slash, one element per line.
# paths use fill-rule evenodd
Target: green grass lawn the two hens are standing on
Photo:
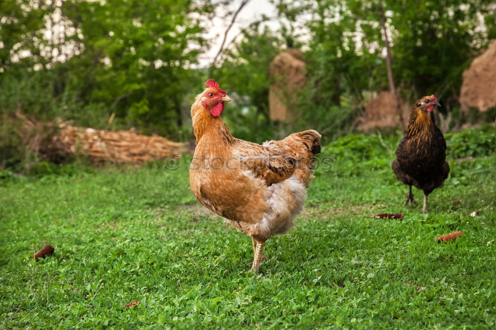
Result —
<path fill-rule="evenodd" d="M 257 276 L 251 240 L 198 205 L 185 164 L 3 179 L 0 328 L 494 329 L 496 157 L 453 162 L 420 214 L 386 149 L 318 170 Z"/>

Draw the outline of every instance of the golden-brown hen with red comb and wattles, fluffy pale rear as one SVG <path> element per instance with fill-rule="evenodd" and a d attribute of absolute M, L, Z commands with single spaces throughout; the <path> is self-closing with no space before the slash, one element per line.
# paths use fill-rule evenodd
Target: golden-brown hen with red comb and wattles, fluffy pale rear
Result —
<path fill-rule="evenodd" d="M 303 208 L 320 134 L 308 130 L 263 145 L 234 138 L 220 114 L 231 98 L 213 80 L 191 106 L 196 147 L 189 183 L 196 199 L 252 239 L 258 272 L 265 241 Z"/>

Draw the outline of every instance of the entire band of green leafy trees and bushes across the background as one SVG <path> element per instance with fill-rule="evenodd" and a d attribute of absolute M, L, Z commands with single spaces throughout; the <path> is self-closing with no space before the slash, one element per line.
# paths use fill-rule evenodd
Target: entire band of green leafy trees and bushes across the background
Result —
<path fill-rule="evenodd" d="M 281 28 L 267 17 L 248 25 L 211 68 L 233 96 L 224 116 L 232 133 L 261 142 L 317 129 L 323 141 L 353 133 L 371 94 L 388 88 L 378 1 L 273 0 Z M 407 99 L 436 94 L 449 127 L 458 109 L 461 72 L 494 39 L 490 0 L 383 0 L 398 90 Z M 16 111 L 77 126 L 136 127 L 190 140 L 189 106 L 207 69 L 216 9 L 232 1 L 0 2 L 0 167 L 26 156 L 12 124 Z M 63 27 L 63 28 L 61 28 Z M 307 85 L 291 106 L 289 124 L 269 119 L 269 63 L 285 47 L 303 49 Z M 454 116 L 449 116 L 453 115 Z M 458 115 L 456 115 L 458 114 Z M 492 120 L 494 109 L 476 120 Z M 494 117 L 494 116 L 493 116 Z M 456 147 L 454 148 L 456 149 Z M 469 154 L 469 151 L 462 152 Z M 20 166 L 26 167 L 26 166 Z"/>

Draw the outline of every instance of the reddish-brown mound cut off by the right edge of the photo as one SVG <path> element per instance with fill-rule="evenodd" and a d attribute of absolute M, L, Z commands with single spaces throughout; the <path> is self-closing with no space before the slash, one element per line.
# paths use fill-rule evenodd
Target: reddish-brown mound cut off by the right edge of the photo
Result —
<path fill-rule="evenodd" d="M 496 42 L 463 72 L 460 105 L 465 113 L 469 108 L 484 112 L 496 106 Z"/>

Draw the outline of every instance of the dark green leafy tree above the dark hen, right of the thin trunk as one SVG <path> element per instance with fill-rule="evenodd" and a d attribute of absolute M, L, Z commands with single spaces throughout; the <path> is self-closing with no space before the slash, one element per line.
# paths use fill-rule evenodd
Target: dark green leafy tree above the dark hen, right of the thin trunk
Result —
<path fill-rule="evenodd" d="M 457 105 L 463 70 L 488 45 L 479 18 L 495 14 L 494 1 L 385 0 L 385 7 L 396 34 L 395 79 L 418 96 L 435 93 L 443 97 L 443 106 Z"/>

